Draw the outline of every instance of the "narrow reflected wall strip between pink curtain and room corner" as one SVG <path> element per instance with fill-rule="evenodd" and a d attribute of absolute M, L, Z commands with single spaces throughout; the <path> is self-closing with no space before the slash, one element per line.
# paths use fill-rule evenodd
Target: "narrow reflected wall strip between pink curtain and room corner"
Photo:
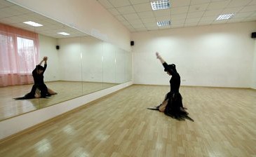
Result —
<path fill-rule="evenodd" d="M 57 39 L 39 34 L 39 62 L 43 56 L 48 56 L 47 69 L 44 74 L 45 81 L 60 80 L 60 75 L 56 72 L 59 71 L 58 50 L 56 50 L 57 43 Z"/>

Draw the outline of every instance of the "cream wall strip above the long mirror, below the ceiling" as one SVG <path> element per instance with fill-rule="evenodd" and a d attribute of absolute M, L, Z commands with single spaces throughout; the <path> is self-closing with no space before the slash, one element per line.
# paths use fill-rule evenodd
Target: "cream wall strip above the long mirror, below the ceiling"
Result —
<path fill-rule="evenodd" d="M 130 32 L 95 0 L 8 0 L 130 51 Z"/>

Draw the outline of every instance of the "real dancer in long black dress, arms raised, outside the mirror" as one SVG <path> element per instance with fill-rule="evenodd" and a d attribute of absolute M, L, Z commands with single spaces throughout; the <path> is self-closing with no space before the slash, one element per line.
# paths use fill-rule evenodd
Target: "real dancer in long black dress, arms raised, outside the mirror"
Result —
<path fill-rule="evenodd" d="M 159 53 L 156 53 L 156 58 L 163 64 L 164 71 L 166 71 L 169 76 L 172 76 L 170 78 L 170 92 L 166 94 L 163 102 L 158 107 L 148 109 L 159 110 L 173 118 L 182 118 L 187 116 L 188 113 L 184 110 L 186 108 L 183 107 L 182 95 L 180 95 L 179 92 L 180 74 L 177 73 L 175 64 L 167 64 Z"/>

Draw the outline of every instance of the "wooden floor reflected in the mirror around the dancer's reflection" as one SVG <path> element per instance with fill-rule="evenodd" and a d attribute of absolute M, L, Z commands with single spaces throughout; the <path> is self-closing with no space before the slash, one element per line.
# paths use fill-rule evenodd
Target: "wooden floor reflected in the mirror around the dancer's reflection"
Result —
<path fill-rule="evenodd" d="M 14 97 L 23 97 L 29 93 L 32 85 L 0 88 L 0 121 L 116 85 L 116 83 L 75 81 L 47 82 L 46 86 L 57 92 L 58 95 L 52 95 L 47 99 L 32 100 L 13 100 Z"/>

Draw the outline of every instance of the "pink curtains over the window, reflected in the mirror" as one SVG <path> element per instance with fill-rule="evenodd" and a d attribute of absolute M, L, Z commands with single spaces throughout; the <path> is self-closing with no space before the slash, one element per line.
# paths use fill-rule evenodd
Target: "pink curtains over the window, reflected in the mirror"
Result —
<path fill-rule="evenodd" d="M 0 87 L 33 83 L 38 60 L 38 34 L 0 23 Z"/>

